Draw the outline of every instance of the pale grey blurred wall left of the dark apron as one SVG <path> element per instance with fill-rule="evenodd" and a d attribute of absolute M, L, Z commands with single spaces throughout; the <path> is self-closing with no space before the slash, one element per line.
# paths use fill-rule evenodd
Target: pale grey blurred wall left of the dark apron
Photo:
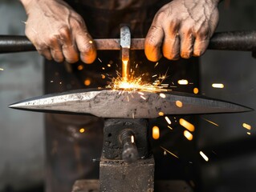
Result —
<path fill-rule="evenodd" d="M 0 2 L 0 34 L 24 34 L 18 1 Z M 43 65 L 36 53 L 0 54 L 0 191 L 35 186 L 43 179 L 43 115 L 8 109 L 41 95 Z"/>

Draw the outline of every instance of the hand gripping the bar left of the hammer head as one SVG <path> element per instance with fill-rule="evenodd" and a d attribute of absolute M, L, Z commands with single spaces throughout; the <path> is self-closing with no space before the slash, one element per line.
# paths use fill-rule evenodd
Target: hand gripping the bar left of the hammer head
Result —
<path fill-rule="evenodd" d="M 63 0 L 20 0 L 28 16 L 26 36 L 39 54 L 56 62 L 85 63 L 95 60 L 96 51 L 83 18 Z"/>

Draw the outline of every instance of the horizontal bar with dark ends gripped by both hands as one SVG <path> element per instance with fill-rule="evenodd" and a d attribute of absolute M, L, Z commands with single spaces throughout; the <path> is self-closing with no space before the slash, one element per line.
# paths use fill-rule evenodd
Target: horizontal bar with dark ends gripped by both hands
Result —
<path fill-rule="evenodd" d="M 97 50 L 120 50 L 120 39 L 94 39 Z M 218 32 L 209 41 L 209 50 L 256 50 L 256 30 Z M 26 36 L 0 35 L 0 54 L 35 50 Z M 132 38 L 131 50 L 144 50 L 144 38 Z"/>

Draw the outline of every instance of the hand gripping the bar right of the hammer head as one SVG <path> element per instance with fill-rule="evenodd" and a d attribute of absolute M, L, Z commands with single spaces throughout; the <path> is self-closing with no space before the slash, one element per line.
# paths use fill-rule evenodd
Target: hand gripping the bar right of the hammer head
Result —
<path fill-rule="evenodd" d="M 177 60 L 203 54 L 218 22 L 220 0 L 173 0 L 153 19 L 145 39 L 148 60 Z M 162 54 L 161 54 L 162 47 Z"/>

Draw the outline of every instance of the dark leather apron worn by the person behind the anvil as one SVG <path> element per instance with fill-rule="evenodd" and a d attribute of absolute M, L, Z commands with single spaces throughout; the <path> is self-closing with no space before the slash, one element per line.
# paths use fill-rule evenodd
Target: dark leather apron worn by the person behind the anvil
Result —
<path fill-rule="evenodd" d="M 92 38 L 119 38 L 120 24 L 122 23 L 130 26 L 133 38 L 144 38 L 156 11 L 169 1 L 70 0 L 67 2 L 83 16 Z M 45 93 L 106 86 L 109 82 L 108 75 L 116 77 L 116 70 L 120 71 L 120 53 L 119 51 L 98 51 L 97 54 L 97 59 L 91 65 L 84 65 L 82 62 L 66 65 L 46 61 Z M 172 82 L 177 84 L 177 80 L 182 78 L 193 82 L 193 85 L 172 88 L 173 90 L 191 93 L 194 87 L 198 87 L 197 58 L 181 59 L 176 62 L 162 58 L 158 66 L 155 67 L 156 62 L 148 62 L 144 56 L 144 51 L 132 51 L 131 60 L 134 61 L 133 64 L 139 63 L 140 74 L 145 74 L 144 80 L 152 82 L 152 71 L 155 71 L 153 72 L 155 74 L 165 74 L 168 69 L 169 78 L 166 82 L 170 85 Z M 111 67 L 107 66 L 108 63 L 112 64 Z M 103 75 L 107 77 L 103 78 Z M 91 84 L 85 86 L 85 80 L 90 80 Z M 103 119 L 77 115 L 46 114 L 45 120 L 46 191 L 70 192 L 71 186 L 77 179 L 99 178 L 99 161 L 92 161 L 92 159 L 99 160 L 101 155 Z M 151 126 L 161 126 L 161 135 L 163 135 L 158 141 L 151 141 L 156 158 L 156 179 L 192 180 L 195 174 L 193 172 L 194 166 L 189 165 L 188 167 L 186 162 L 184 164 L 177 160 L 173 162 L 173 157 L 170 155 L 164 157 L 163 150 L 160 148 L 163 145 L 175 151 L 184 150 L 186 156 L 193 158 L 194 145 L 191 145 L 190 142 L 189 146 L 186 146 L 183 130 L 169 131 L 164 125 L 164 119 L 151 120 L 150 124 Z M 83 134 L 79 133 L 81 128 L 85 129 Z"/>

